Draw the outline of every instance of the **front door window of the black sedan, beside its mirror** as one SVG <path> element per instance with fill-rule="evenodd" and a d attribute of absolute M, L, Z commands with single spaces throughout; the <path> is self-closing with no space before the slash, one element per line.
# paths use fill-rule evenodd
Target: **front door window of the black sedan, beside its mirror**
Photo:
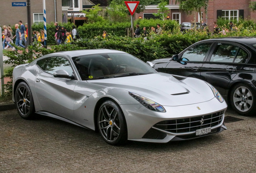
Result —
<path fill-rule="evenodd" d="M 203 43 L 193 46 L 183 53 L 182 58 L 189 61 L 203 61 L 212 43 Z"/>

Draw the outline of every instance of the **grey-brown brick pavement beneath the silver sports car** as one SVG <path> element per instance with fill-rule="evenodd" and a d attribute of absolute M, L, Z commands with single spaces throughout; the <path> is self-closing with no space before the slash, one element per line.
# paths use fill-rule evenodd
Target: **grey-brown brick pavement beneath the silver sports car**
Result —
<path fill-rule="evenodd" d="M 228 130 L 166 144 L 114 147 L 99 133 L 16 110 L 0 112 L 0 173 L 255 173 L 256 116 L 227 111 Z M 231 117 L 231 118 L 232 118 Z"/>

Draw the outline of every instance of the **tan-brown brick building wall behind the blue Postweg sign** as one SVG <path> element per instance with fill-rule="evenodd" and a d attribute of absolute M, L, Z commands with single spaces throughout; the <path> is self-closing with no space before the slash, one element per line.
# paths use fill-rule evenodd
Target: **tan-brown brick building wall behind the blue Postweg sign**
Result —
<path fill-rule="evenodd" d="M 19 20 L 23 24 L 27 23 L 27 7 L 12 6 L 12 2 L 27 2 L 27 0 L 0 0 L 0 26 L 14 26 Z M 62 0 L 45 0 L 45 9 L 47 23 L 55 20 L 62 22 Z M 31 0 L 31 22 L 43 23 L 43 0 Z"/>

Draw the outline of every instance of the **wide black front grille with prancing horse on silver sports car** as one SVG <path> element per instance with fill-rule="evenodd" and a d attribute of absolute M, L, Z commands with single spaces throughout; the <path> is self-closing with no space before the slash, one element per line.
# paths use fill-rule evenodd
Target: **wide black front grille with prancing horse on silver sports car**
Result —
<path fill-rule="evenodd" d="M 172 133 L 184 133 L 219 125 L 223 117 L 224 111 L 221 111 L 198 117 L 161 121 L 155 124 L 153 127 Z"/>

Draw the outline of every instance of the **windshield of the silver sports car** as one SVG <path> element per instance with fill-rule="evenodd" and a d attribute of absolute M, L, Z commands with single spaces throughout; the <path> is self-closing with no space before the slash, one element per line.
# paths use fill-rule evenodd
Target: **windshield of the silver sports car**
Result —
<path fill-rule="evenodd" d="M 72 60 L 82 80 L 156 73 L 145 62 L 126 53 L 89 54 Z"/>

